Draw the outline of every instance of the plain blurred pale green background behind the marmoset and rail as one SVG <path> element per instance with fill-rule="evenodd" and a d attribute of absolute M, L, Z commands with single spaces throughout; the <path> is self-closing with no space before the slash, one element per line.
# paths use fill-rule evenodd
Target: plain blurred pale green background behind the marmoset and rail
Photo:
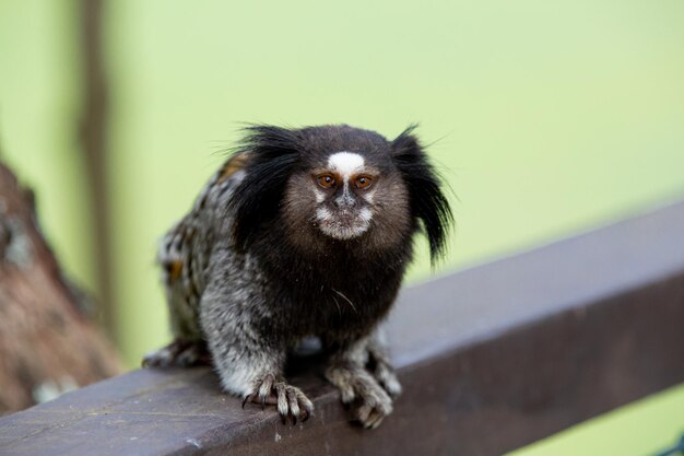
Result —
<path fill-rule="evenodd" d="M 439 273 L 684 197 L 679 0 L 117 0 L 105 14 L 114 324 L 131 366 L 168 338 L 156 239 L 240 121 L 388 137 L 421 122 L 458 195 Z M 79 21 L 73 0 L 0 0 L 0 139 L 67 270 L 96 290 Z M 409 281 L 428 274 L 423 248 Z M 682 409 L 684 387 L 523 453 L 648 454 L 684 431 Z"/>

